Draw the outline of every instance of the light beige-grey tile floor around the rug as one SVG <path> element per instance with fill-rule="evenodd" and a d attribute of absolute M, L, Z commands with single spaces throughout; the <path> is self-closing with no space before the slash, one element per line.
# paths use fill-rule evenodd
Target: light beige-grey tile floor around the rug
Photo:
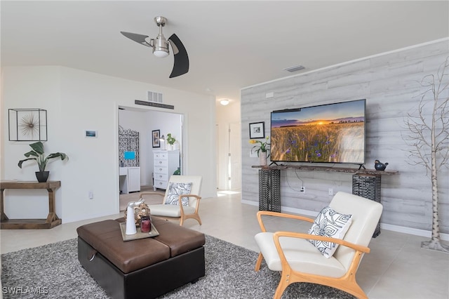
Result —
<path fill-rule="evenodd" d="M 189 219 L 185 227 L 257 251 L 254 235 L 260 232 L 255 218 L 257 206 L 241 204 L 238 192 L 219 192 L 203 199 L 200 215 L 203 225 Z M 88 222 L 114 219 L 121 214 L 72 222 L 51 230 L 0 230 L 1 253 L 72 239 L 76 227 Z M 309 223 L 272 218 L 267 230 L 307 232 Z M 449 254 L 420 248 L 425 237 L 382 230 L 370 243 L 357 273 L 358 283 L 371 299 L 425 298 L 449 299 Z"/>

